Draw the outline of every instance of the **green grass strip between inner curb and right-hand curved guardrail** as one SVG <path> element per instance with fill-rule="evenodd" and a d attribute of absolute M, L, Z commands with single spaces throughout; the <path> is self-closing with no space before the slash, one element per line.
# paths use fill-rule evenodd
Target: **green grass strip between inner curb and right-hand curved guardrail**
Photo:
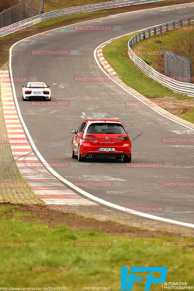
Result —
<path fill-rule="evenodd" d="M 193 100 L 187 95 L 176 94 L 161 84 L 147 77 L 127 55 L 129 39 L 135 35 L 124 36 L 109 43 L 103 48 L 103 56 L 111 67 L 120 76 L 120 79 L 128 86 L 134 88 L 146 97 L 177 97 L 181 100 Z"/>

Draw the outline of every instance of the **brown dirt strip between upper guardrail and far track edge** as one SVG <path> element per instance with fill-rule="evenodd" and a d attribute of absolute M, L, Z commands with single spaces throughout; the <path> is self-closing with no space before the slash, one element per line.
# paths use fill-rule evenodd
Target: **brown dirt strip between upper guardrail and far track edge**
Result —
<path fill-rule="evenodd" d="M 178 1 L 178 4 L 184 4 L 184 3 L 193 3 L 193 0 L 184 0 L 184 1 Z M 10 34 L 8 37 L 1 39 L 0 38 L 0 70 L 5 68 L 5 64 L 8 62 L 8 56 L 9 56 L 9 48 L 17 41 L 27 38 L 29 36 L 33 36 L 34 34 L 41 33 L 44 31 L 48 31 L 51 29 L 55 29 L 61 26 L 65 26 L 68 24 L 73 24 L 77 21 L 83 21 L 86 18 L 87 19 L 95 19 L 98 17 L 105 17 L 109 15 L 115 15 L 119 13 L 125 13 L 125 12 L 131 12 L 131 11 L 137 11 L 137 10 L 143 10 L 143 9 L 149 9 L 149 8 L 157 8 L 157 7 L 163 7 L 163 6 L 170 6 L 170 5 L 176 5 L 177 1 L 169 1 L 169 2 L 157 2 L 157 3 L 146 3 L 141 5 L 134 5 L 134 6 L 127 6 L 127 7 L 118 7 L 113 9 L 104 10 L 104 13 L 95 13 L 91 16 L 83 16 L 83 17 L 74 17 L 71 19 L 65 19 L 61 22 L 56 22 L 53 24 L 48 24 L 45 26 L 38 27 L 38 31 L 34 33 L 34 31 L 25 31 L 17 34 Z M 56 20 L 57 21 L 57 20 Z M 2 67 L 4 65 L 4 67 Z"/>

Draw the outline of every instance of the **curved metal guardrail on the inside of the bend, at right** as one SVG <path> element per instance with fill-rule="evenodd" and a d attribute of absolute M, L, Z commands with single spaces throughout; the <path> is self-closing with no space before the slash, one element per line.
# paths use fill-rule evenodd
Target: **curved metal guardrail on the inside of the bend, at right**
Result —
<path fill-rule="evenodd" d="M 154 26 L 150 29 L 141 31 L 137 33 L 135 36 L 130 38 L 128 42 L 128 54 L 130 59 L 149 77 L 153 78 L 155 81 L 159 82 L 163 86 L 175 91 L 177 93 L 186 94 L 188 96 L 194 96 L 194 84 L 179 82 L 170 77 L 167 77 L 163 74 L 160 74 L 152 67 L 150 67 L 147 63 L 145 63 L 142 59 L 140 59 L 134 51 L 131 49 L 133 45 L 145 38 L 150 36 L 158 35 L 166 31 L 170 31 L 173 29 L 179 29 L 183 26 L 188 26 L 194 24 L 194 17 L 180 19 L 173 22 L 168 22 L 162 25 Z"/>

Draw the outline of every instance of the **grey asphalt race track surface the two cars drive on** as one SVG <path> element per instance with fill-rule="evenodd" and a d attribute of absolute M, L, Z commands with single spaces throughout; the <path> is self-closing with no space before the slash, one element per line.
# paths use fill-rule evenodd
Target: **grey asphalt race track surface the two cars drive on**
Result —
<path fill-rule="evenodd" d="M 167 10 L 166 10 L 167 9 Z M 83 188 L 90 194 L 123 207 L 159 206 L 160 217 L 193 223 L 193 188 L 161 187 L 163 181 L 193 180 L 193 144 L 163 143 L 163 137 L 193 137 L 194 131 L 175 123 L 149 107 L 126 107 L 137 101 L 113 81 L 76 82 L 75 76 L 104 76 L 93 52 L 103 42 L 150 26 L 194 16 L 194 4 L 156 8 L 83 22 L 109 25 L 111 31 L 75 31 L 70 26 L 31 36 L 12 49 L 13 77 L 28 77 L 51 86 L 52 101 L 69 106 L 32 106 L 22 101 L 15 82 L 19 108 L 33 141 L 45 160 L 69 162 L 55 171 L 74 183 L 109 181 L 112 187 Z M 126 44 L 127 45 L 127 44 Z M 69 50 L 67 56 L 32 55 L 32 50 Z M 135 76 L 134 76 L 135 77 Z M 132 163 L 163 163 L 162 168 L 127 168 L 122 160 L 71 159 L 71 129 L 84 119 L 119 119 L 132 141 Z M 177 168 L 175 166 L 178 166 Z M 170 211 L 169 211 L 170 210 Z"/>

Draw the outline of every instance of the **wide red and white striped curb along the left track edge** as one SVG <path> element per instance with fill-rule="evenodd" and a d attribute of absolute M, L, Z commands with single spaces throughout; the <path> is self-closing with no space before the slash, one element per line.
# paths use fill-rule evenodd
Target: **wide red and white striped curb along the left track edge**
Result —
<path fill-rule="evenodd" d="M 13 101 L 8 71 L 0 71 L 0 85 L 3 114 L 12 154 L 18 170 L 34 194 L 49 205 L 96 205 L 66 187 L 45 169 L 26 139 Z"/>

